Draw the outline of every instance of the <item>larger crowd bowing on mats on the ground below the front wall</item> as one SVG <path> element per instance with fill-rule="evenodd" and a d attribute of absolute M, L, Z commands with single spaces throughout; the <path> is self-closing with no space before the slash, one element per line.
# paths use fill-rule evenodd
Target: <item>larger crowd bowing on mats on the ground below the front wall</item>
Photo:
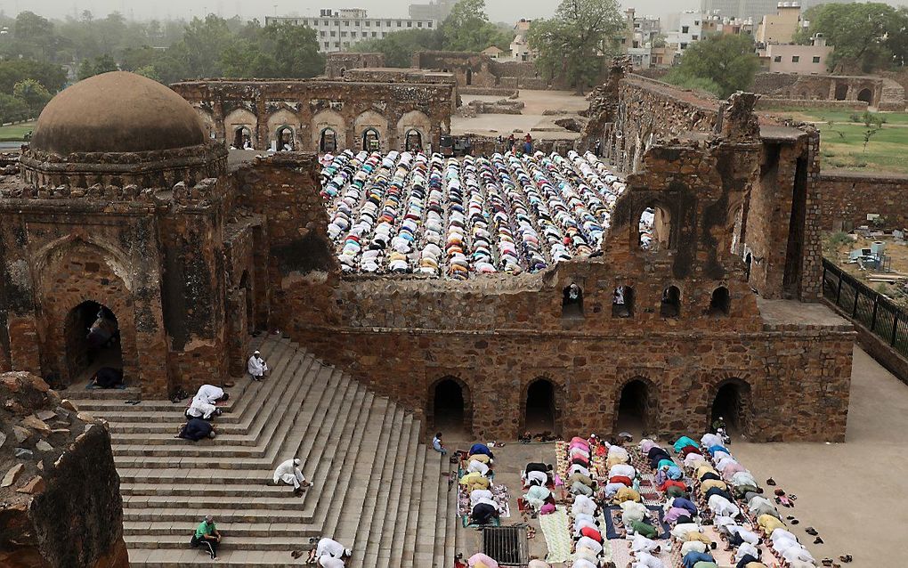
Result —
<path fill-rule="evenodd" d="M 699 442 L 682 436 L 667 447 L 650 439 L 635 447 L 629 441 L 629 435 L 612 443 L 577 436 L 558 443 L 557 467 L 528 463 L 522 474 L 521 501 L 534 516 L 556 513 L 564 503 L 573 568 L 614 567 L 607 539 L 627 542 L 631 568 L 819 565 L 777 508 L 794 506 L 796 497 L 781 489 L 775 499 L 764 494 L 728 450 L 724 424 Z"/>

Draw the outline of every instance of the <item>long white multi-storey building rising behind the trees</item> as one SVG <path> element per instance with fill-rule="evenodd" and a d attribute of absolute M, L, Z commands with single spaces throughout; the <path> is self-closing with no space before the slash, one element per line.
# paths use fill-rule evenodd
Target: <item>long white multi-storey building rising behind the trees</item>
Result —
<path fill-rule="evenodd" d="M 436 19 L 370 18 L 361 8 L 320 10 L 317 17 L 265 16 L 265 25 L 289 22 L 315 30 L 319 51 L 350 51 L 350 47 L 368 39 L 381 39 L 403 30 L 436 29 Z"/>

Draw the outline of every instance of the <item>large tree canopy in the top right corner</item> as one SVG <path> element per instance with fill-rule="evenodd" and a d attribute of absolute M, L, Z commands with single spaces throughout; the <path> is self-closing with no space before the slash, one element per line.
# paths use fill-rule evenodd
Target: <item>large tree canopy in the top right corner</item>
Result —
<path fill-rule="evenodd" d="M 804 13 L 810 26 L 796 40 L 808 43 L 823 34 L 835 50 L 829 58 L 833 73 L 869 73 L 908 60 L 908 8 L 880 2 L 822 4 Z"/>

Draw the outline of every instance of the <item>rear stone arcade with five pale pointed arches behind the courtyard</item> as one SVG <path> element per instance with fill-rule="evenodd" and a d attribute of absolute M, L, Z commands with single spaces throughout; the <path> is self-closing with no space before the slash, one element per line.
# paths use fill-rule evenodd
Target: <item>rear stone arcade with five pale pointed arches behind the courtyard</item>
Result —
<path fill-rule="evenodd" d="M 294 150 L 317 152 L 322 134 L 337 135 L 339 149 L 363 147 L 377 133 L 383 151 L 402 150 L 408 131 L 424 147 L 438 147 L 450 131 L 456 86 L 440 83 L 326 81 L 193 81 L 171 85 L 210 125 L 218 140 L 233 144 L 244 130 L 255 149 L 277 144 L 279 134 Z"/>

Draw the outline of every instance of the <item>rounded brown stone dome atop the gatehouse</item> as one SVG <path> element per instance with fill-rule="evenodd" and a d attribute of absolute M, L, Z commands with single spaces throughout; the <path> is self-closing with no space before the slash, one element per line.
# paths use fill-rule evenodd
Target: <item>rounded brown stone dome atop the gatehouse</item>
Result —
<path fill-rule="evenodd" d="M 205 144 L 202 120 L 182 96 L 125 71 L 95 75 L 54 96 L 31 149 L 47 154 L 131 153 Z"/>

